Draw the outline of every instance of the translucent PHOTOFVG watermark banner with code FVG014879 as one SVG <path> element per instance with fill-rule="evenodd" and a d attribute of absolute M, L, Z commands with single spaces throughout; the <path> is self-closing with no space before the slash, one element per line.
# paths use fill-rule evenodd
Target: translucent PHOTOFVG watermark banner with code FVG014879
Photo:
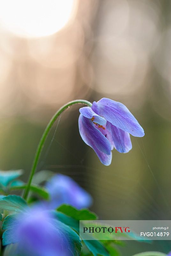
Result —
<path fill-rule="evenodd" d="M 171 240 L 171 220 L 80 220 L 84 240 Z"/>

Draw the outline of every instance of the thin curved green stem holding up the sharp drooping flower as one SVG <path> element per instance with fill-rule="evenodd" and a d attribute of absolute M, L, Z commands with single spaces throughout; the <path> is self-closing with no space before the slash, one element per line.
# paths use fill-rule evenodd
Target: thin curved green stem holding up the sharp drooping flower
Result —
<path fill-rule="evenodd" d="M 58 118 L 58 116 L 60 116 L 60 114 L 66 109 L 66 108 L 69 108 L 70 106 L 72 105 L 75 105 L 75 104 L 85 104 L 89 107 L 92 106 L 92 103 L 87 101 L 87 100 L 72 100 L 68 103 L 66 103 L 65 105 L 63 105 L 61 108 L 59 108 L 55 115 L 51 118 L 51 120 L 49 121 L 43 135 L 41 136 L 41 140 L 38 144 L 38 147 L 37 147 L 37 150 L 36 150 L 36 153 L 35 153 L 35 156 L 34 156 L 34 160 L 33 160 L 33 165 L 32 165 L 32 169 L 31 169 L 31 172 L 30 172 L 30 176 L 29 176 L 29 179 L 28 179 L 28 182 L 27 182 L 27 185 L 26 185 L 26 189 L 24 191 L 24 199 L 26 200 L 27 199 L 27 196 L 28 196 L 28 193 L 29 193 L 29 190 L 30 190 L 30 185 L 31 185 L 31 182 L 32 182 L 32 179 L 33 179 L 33 175 L 36 171 L 36 168 L 37 168 L 37 164 L 38 164 L 38 161 L 39 161 L 39 157 L 41 155 L 41 150 L 43 148 L 43 145 L 45 143 L 45 140 L 48 136 L 48 133 L 50 131 L 50 129 L 52 128 L 52 125 L 55 123 L 56 119 Z"/>

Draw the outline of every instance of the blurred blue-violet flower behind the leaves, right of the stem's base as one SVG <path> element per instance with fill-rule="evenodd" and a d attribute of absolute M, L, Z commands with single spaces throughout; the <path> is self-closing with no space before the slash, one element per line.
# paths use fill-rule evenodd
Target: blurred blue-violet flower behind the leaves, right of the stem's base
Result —
<path fill-rule="evenodd" d="M 50 195 L 50 209 L 61 204 L 71 204 L 77 209 L 89 207 L 92 197 L 70 177 L 56 174 L 45 185 Z"/>

